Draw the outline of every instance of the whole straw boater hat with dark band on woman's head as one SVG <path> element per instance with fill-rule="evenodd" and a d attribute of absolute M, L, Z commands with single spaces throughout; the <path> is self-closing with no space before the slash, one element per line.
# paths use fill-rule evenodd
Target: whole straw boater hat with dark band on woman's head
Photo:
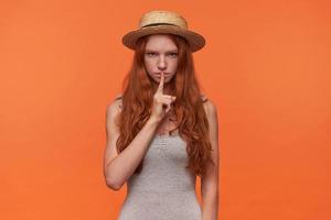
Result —
<path fill-rule="evenodd" d="M 184 37 L 191 47 L 191 52 L 196 52 L 205 45 L 202 35 L 188 30 L 186 20 L 172 11 L 153 10 L 145 13 L 138 30 L 130 31 L 122 36 L 122 44 L 130 50 L 135 50 L 139 37 L 150 34 L 174 34 Z"/>

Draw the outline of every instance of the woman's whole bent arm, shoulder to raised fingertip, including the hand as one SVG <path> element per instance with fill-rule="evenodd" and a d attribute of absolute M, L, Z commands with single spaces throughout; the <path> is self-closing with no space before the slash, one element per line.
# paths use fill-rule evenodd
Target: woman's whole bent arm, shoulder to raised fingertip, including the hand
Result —
<path fill-rule="evenodd" d="M 156 130 L 164 117 L 170 112 L 171 105 L 175 97 L 163 95 L 164 75 L 161 74 L 159 87 L 153 96 L 151 114 L 147 123 L 138 132 L 128 146 L 118 155 L 116 141 L 119 131 L 116 125 L 116 118 L 120 110 L 121 100 L 115 101 L 107 108 L 106 131 L 107 146 L 105 150 L 104 175 L 109 188 L 118 190 L 134 174 L 141 160 L 143 158 Z M 164 107 L 167 107 L 164 109 Z"/>

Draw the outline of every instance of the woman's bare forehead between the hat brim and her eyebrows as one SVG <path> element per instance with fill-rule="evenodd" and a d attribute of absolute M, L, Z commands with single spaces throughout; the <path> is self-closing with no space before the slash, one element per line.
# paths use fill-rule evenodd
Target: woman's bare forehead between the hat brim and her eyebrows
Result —
<path fill-rule="evenodd" d="M 146 51 L 175 51 L 177 45 L 167 34 L 149 35 L 146 44 Z"/>

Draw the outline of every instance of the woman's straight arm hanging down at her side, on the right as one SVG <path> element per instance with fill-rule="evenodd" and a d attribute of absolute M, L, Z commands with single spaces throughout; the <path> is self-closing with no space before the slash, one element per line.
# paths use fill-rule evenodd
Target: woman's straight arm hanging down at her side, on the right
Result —
<path fill-rule="evenodd" d="M 206 173 L 201 176 L 202 220 L 218 219 L 218 120 L 217 109 L 211 102 L 204 103 L 210 124 L 212 160 L 216 166 L 207 165 Z"/>

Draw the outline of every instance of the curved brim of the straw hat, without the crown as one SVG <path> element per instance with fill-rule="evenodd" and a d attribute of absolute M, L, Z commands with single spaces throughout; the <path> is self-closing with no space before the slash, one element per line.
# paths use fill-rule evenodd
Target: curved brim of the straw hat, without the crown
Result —
<path fill-rule="evenodd" d="M 184 37 L 189 44 L 191 52 L 196 52 L 201 50 L 205 45 L 205 38 L 189 30 L 183 30 L 177 26 L 169 25 L 159 25 L 159 26 L 149 26 L 145 29 L 139 29 L 136 31 L 131 31 L 122 36 L 122 44 L 131 50 L 136 48 L 137 40 L 141 36 L 150 35 L 150 34 L 174 34 Z"/>

